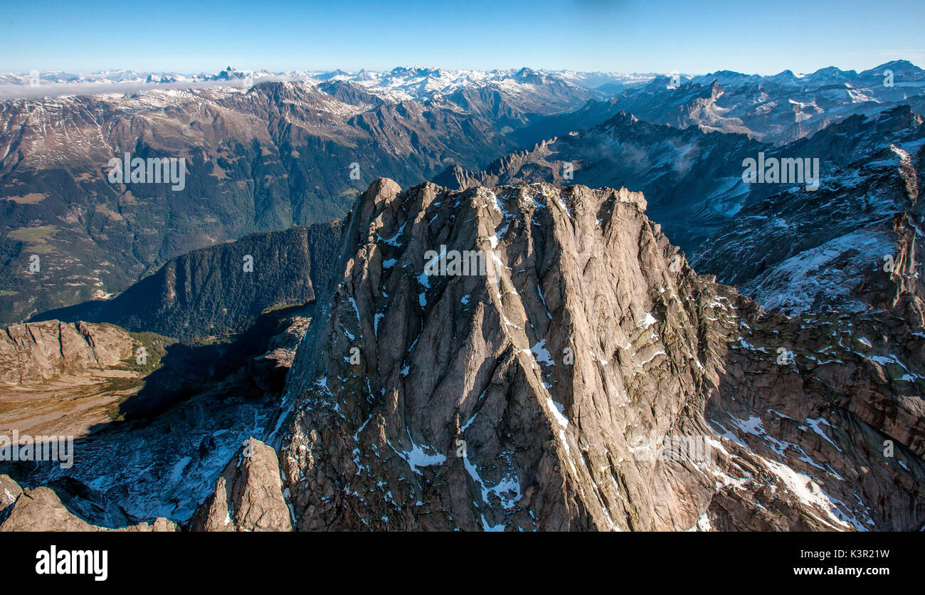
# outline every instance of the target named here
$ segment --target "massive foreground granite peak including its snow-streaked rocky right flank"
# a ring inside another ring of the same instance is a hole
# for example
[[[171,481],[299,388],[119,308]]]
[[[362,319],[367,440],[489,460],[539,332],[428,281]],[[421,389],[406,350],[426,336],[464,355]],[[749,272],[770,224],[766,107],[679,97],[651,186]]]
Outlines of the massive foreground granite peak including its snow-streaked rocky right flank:
[[[645,208],[377,180],[270,437],[294,527],[920,527],[920,328],[765,315]]]

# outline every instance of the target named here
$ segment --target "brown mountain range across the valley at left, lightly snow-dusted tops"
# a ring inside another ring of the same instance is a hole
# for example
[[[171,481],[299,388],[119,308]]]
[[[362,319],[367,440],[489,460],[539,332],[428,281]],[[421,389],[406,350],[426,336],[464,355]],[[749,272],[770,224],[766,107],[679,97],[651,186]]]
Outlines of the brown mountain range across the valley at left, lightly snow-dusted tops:
[[[343,217],[379,176],[413,183],[453,163],[482,167],[517,148],[506,131],[537,110],[590,96],[557,89],[393,103],[350,82],[273,81],[6,101],[0,320],[104,298],[216,242]],[[126,154],[184,159],[183,189],[111,183],[110,159]]]

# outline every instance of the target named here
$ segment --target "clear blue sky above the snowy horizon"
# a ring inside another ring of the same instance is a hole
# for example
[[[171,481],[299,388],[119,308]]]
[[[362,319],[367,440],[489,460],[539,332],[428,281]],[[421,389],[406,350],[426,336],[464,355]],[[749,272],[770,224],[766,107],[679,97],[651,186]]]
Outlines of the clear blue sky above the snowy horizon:
[[[922,0],[4,3],[0,71],[925,67]]]

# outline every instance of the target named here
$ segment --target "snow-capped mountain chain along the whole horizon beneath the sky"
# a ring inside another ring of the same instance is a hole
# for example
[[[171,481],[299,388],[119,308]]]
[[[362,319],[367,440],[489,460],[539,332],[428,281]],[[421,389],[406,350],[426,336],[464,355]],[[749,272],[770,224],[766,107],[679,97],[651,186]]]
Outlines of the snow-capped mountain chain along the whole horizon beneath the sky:
[[[874,115],[894,105],[925,112],[925,70],[894,60],[857,72],[828,67],[808,74],[790,70],[771,76],[719,70],[709,74],[584,72],[532,68],[452,70],[399,67],[388,71],[239,70],[179,74],[134,70],[89,75],[67,72],[0,74],[0,99],[137,94],[196,90],[247,91],[255,84],[292,81],[310,87],[347,88],[376,101],[437,102],[471,111],[468,98],[490,105],[497,93],[522,111],[546,117],[513,126],[514,137],[532,146],[581,130],[620,111],[676,128],[700,126],[783,144],[853,114]],[[165,95],[152,95],[152,100]],[[445,103],[449,102],[449,104]],[[586,103],[585,103],[586,102]],[[581,109],[575,110],[584,103]]]

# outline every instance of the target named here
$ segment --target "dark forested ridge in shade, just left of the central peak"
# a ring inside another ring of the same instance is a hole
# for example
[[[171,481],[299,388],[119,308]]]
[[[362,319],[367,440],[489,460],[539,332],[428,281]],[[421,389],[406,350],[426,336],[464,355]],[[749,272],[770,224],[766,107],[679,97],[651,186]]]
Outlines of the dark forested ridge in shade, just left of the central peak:
[[[337,258],[339,223],[253,233],[183,254],[112,300],[39,318],[112,322],[181,341],[237,333],[265,308],[314,300]]]

